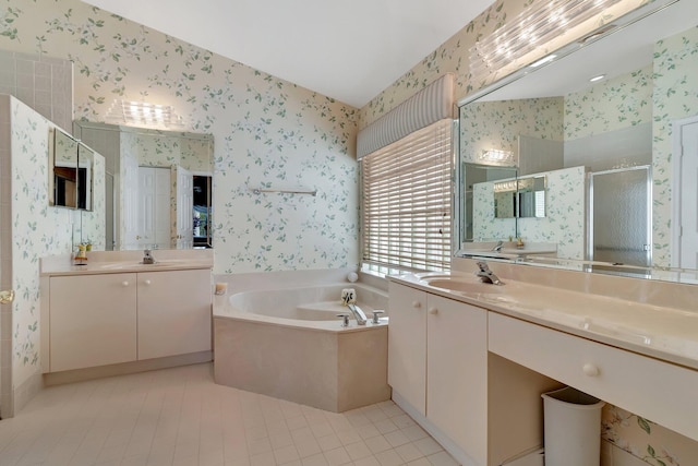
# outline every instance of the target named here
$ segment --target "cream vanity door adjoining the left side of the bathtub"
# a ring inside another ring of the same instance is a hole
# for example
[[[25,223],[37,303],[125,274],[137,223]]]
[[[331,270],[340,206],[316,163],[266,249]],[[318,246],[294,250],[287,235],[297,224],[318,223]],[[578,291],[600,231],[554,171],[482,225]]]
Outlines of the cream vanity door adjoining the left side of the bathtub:
[[[139,273],[139,360],[210,350],[210,271]]]

